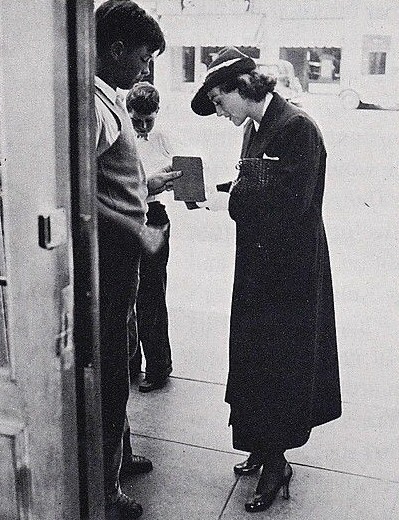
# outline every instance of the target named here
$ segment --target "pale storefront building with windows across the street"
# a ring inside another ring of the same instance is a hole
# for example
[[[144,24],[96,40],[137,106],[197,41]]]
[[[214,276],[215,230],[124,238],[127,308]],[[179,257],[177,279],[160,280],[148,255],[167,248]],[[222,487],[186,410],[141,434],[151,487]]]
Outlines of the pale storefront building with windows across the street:
[[[157,62],[160,88],[195,90],[214,53],[227,45],[259,63],[290,61],[304,91],[371,88],[390,94],[398,83],[397,0],[139,3],[159,19],[167,39],[167,50]]]

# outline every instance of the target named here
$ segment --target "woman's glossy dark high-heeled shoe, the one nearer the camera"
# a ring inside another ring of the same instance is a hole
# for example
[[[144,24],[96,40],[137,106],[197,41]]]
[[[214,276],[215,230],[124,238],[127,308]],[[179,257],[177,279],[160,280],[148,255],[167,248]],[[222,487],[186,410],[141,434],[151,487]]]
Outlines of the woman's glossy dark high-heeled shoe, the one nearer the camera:
[[[265,465],[254,496],[245,504],[246,511],[250,513],[265,511],[272,505],[281,488],[283,489],[283,498],[289,499],[292,473],[292,468],[284,456],[276,461],[274,466]]]

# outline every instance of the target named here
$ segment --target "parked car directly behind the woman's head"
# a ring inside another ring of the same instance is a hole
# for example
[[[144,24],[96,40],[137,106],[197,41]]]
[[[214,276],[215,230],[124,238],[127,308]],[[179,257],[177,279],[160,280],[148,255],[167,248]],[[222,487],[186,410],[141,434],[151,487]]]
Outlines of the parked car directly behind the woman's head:
[[[299,79],[295,76],[294,67],[287,60],[277,60],[273,63],[258,63],[258,70],[262,74],[274,76],[277,84],[274,88],[284,99],[300,106],[302,104],[303,89]]]

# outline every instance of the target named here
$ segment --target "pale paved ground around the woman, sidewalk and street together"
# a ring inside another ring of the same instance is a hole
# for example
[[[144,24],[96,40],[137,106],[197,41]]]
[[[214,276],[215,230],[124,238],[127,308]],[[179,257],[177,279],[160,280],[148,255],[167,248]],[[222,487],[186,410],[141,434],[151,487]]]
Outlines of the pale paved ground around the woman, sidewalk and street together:
[[[200,118],[189,93],[166,97],[163,125],[177,154],[201,155],[209,185],[236,176],[242,128]],[[249,514],[257,475],[236,478],[223,402],[228,368],[234,225],[226,211],[188,211],[165,195],[172,222],[168,306],[174,371],[140,394],[128,414],[151,474],[126,491],[143,520],[396,520],[399,518],[399,112],[345,111],[331,95],[307,95],[328,151],[324,220],[329,239],[343,415],[315,428],[293,463],[291,499]]]

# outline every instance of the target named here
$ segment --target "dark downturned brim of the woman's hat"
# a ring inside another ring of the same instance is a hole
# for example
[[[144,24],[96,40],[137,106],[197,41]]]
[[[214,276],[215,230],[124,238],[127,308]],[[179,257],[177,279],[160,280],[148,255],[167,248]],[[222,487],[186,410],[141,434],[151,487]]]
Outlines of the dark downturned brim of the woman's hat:
[[[191,109],[199,116],[210,116],[216,112],[215,105],[209,99],[208,93],[218,85],[233,79],[235,76],[251,72],[256,69],[256,63],[252,58],[243,58],[230,65],[219,69],[206,78],[202,87],[198,90],[191,101]]]

